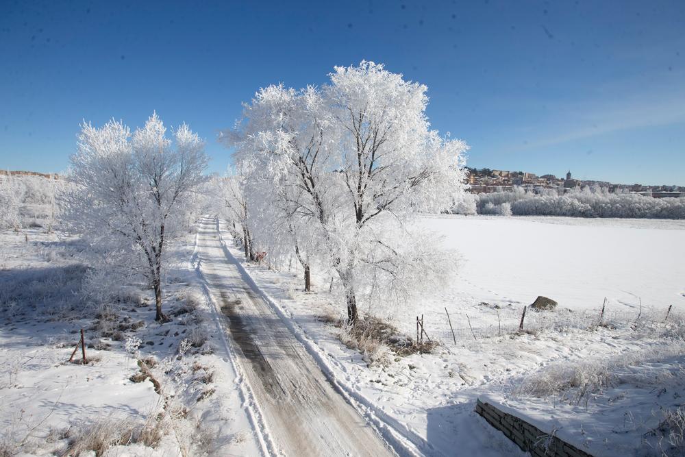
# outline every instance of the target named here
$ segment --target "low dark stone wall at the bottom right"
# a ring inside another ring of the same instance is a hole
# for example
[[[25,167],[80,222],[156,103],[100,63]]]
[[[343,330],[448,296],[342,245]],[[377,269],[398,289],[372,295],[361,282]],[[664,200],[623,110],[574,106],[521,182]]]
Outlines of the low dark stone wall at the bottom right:
[[[514,441],[524,452],[530,452],[534,457],[592,457],[591,454],[562,441],[557,436],[543,432],[535,425],[503,412],[489,403],[477,400],[475,412]]]

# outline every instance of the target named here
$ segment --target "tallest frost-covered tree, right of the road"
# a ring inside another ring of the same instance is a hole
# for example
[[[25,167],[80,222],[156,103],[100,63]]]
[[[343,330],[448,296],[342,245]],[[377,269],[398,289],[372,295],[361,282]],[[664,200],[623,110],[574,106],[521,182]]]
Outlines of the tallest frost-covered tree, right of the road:
[[[429,282],[419,271],[406,271],[428,267],[426,257],[435,262],[437,253],[406,252],[404,248],[416,245],[409,241],[421,235],[399,227],[408,214],[449,209],[463,192],[466,145],[430,129],[426,90],[373,62],[336,66],[324,88],[334,119],[331,147],[339,163],[335,177],[343,209],[329,227],[336,234],[331,237],[336,240],[334,268],[351,322],[357,318],[358,270],[367,270],[367,279],[384,275],[386,282],[397,284]],[[405,236],[388,238],[393,227]],[[423,241],[430,247],[430,240]]]

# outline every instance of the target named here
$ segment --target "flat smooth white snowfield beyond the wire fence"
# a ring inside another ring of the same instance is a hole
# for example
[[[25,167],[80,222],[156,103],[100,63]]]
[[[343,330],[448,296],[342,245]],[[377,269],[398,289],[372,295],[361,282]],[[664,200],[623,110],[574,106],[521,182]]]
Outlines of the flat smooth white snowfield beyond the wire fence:
[[[455,286],[478,301],[568,308],[685,308],[685,221],[436,216],[463,264]]]

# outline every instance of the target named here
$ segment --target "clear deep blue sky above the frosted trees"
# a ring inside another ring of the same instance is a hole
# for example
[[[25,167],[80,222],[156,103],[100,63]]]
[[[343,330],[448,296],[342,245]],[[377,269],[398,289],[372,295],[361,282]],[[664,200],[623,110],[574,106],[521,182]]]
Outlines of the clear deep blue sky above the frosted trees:
[[[82,119],[208,142],[260,87],[383,62],[469,165],[685,185],[685,1],[0,1],[0,168],[61,171]]]

